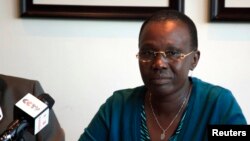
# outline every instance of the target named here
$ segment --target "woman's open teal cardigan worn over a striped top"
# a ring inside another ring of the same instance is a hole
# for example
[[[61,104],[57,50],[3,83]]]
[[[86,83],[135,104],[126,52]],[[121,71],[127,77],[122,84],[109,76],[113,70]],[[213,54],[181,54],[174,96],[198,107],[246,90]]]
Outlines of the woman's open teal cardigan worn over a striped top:
[[[177,141],[207,141],[209,124],[247,124],[231,91],[190,78],[193,84]],[[100,107],[79,141],[140,141],[146,88],[115,91]]]

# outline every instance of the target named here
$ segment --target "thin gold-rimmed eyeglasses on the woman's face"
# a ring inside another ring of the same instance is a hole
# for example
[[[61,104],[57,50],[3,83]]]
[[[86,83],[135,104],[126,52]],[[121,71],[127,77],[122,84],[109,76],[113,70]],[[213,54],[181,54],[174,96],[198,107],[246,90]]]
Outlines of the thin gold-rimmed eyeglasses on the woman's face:
[[[180,61],[187,57],[188,55],[192,54],[194,52],[191,51],[187,54],[181,53],[179,51],[152,51],[152,50],[147,50],[147,51],[139,51],[139,53],[136,55],[136,57],[139,59],[141,62],[151,62],[155,59],[157,54],[162,55],[165,59],[167,59],[170,62],[173,61]]]

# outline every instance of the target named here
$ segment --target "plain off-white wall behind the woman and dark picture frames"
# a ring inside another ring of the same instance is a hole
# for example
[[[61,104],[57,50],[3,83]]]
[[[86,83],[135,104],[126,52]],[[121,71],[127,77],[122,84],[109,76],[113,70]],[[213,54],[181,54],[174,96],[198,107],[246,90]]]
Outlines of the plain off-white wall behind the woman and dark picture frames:
[[[186,0],[197,25],[197,76],[229,88],[250,121],[250,24],[209,23],[208,0]],[[0,73],[39,80],[77,140],[114,90],[142,84],[135,54],[140,21],[21,19],[16,0],[0,0]]]

